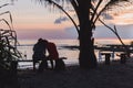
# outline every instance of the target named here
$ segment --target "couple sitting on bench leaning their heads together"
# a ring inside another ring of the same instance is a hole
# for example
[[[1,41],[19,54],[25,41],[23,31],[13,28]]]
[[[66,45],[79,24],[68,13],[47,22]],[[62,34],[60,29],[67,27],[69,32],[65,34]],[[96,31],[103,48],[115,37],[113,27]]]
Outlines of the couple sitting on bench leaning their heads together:
[[[48,51],[48,56],[45,55]],[[57,51],[57,46],[52,42],[48,42],[47,40],[39,38],[37,44],[33,46],[33,70],[35,70],[35,63],[39,63],[41,61],[41,64],[39,65],[39,70],[43,70],[43,68],[48,68],[48,62],[47,59],[50,59],[52,69],[53,66],[53,59],[59,58],[59,53]]]

